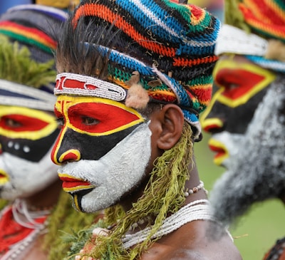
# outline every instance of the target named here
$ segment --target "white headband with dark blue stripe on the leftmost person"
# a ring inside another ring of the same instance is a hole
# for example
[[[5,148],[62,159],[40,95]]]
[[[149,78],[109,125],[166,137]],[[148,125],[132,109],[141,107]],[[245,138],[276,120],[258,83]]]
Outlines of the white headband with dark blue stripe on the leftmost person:
[[[56,97],[52,93],[0,79],[0,104],[53,111]]]

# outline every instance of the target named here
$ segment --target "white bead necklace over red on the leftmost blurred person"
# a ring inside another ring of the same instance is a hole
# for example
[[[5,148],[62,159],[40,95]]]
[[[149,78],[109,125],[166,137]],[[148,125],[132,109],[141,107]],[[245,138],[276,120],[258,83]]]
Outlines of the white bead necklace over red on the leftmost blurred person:
[[[4,254],[4,256],[1,256],[1,260],[22,259],[20,255],[31,247],[33,241],[35,241],[38,235],[41,234],[41,232],[44,232],[44,229],[46,228],[46,222],[40,224],[34,219],[46,217],[46,215],[50,214],[51,211],[41,210],[37,212],[29,212],[26,202],[24,200],[16,199],[12,205],[12,212],[17,223],[21,224],[23,227],[27,227],[28,229],[33,229],[33,231],[18,243],[13,244],[11,249]],[[24,219],[23,217],[20,217],[21,215],[24,216]]]

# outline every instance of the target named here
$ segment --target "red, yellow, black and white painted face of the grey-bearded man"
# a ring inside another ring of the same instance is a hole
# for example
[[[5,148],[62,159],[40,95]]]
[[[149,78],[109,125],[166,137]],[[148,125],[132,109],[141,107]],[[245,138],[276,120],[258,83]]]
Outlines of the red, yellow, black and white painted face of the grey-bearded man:
[[[217,153],[214,163],[228,167],[275,76],[241,56],[223,56],[213,75],[218,90],[202,115],[202,128],[212,134],[209,147]]]

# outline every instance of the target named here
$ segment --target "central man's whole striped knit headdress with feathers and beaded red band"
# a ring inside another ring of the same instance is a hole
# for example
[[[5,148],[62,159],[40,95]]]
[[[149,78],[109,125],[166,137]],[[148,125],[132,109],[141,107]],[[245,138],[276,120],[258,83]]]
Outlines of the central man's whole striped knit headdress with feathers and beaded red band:
[[[176,103],[199,136],[198,116],[211,98],[217,61],[220,23],[214,16],[169,0],[88,0],[81,1],[68,24],[57,52],[56,95],[110,98],[133,108]],[[92,52],[108,59],[103,80],[95,68],[99,61],[87,61]]]

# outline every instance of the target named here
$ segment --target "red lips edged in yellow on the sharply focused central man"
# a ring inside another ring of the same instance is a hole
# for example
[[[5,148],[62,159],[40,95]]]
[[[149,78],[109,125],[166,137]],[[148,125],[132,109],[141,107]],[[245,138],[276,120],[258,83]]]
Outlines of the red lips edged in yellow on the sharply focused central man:
[[[63,182],[63,190],[65,192],[78,192],[83,189],[93,189],[95,186],[86,182],[85,180],[75,178],[71,175],[66,175],[64,173],[58,173],[58,177]]]

